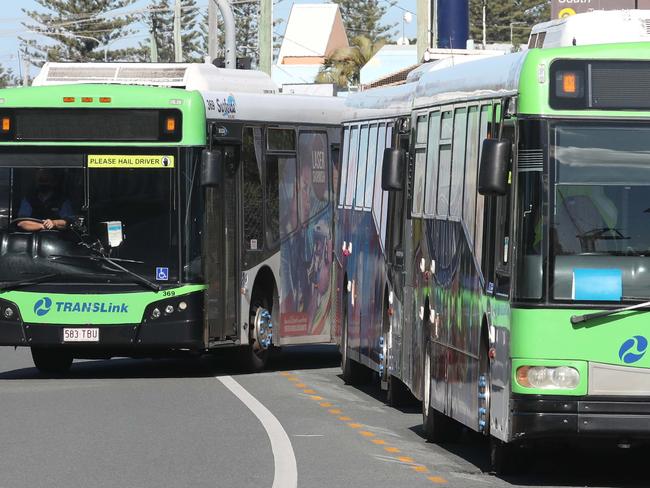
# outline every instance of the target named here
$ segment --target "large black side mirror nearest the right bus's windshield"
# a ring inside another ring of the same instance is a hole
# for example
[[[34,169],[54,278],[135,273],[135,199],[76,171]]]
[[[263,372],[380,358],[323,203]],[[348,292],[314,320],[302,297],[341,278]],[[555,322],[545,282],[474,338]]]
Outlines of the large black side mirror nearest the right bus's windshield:
[[[505,195],[508,191],[510,141],[485,139],[481,149],[478,192],[483,196]]]

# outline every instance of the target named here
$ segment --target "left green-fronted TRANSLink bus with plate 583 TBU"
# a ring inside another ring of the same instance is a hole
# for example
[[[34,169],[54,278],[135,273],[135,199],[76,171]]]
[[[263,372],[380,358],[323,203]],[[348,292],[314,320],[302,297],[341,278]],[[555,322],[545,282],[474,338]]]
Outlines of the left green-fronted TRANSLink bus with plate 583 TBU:
[[[332,340],[341,101],[210,64],[34,84],[0,91],[0,344],[64,372],[227,346],[257,369]]]

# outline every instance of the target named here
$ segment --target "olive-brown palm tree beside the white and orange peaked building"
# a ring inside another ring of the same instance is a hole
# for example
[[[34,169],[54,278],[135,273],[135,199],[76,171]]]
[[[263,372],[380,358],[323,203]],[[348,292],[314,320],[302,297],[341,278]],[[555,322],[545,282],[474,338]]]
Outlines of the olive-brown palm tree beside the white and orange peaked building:
[[[350,47],[339,48],[325,59],[316,77],[316,83],[334,83],[342,88],[358,85],[361,68],[384,44],[383,40],[373,43],[367,37],[355,37]]]

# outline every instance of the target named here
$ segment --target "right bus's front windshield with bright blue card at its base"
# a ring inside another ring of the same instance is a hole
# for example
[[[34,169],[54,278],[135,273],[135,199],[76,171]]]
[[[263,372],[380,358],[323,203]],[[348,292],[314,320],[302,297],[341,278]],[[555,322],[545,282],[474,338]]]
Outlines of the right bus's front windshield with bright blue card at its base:
[[[650,127],[567,123],[554,138],[553,297],[650,296]]]

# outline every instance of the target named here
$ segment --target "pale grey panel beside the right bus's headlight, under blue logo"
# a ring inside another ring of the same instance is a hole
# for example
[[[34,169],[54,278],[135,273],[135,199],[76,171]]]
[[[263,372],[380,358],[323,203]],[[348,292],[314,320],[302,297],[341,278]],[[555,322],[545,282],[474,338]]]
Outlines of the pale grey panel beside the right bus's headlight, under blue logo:
[[[650,369],[589,363],[589,395],[650,396]]]

